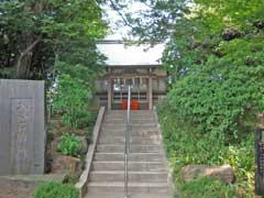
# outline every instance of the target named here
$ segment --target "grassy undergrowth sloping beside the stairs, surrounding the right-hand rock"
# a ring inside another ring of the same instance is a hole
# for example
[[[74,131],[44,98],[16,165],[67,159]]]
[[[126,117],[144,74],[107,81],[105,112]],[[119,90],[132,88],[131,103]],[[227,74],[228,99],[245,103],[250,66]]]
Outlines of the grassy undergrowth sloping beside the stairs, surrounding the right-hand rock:
[[[219,189],[212,197],[221,197],[222,190],[238,189],[242,197],[254,197],[254,134],[239,136],[239,141],[230,141],[229,144],[221,142],[218,138],[199,133],[190,122],[180,122],[178,114],[167,102],[158,107],[158,120],[167,151],[168,161],[174,173],[175,185],[183,191],[189,186],[197,186],[199,182],[184,184],[180,179],[180,169],[189,164],[222,165],[230,164],[235,172],[237,183],[226,188],[224,185],[213,184],[204,180],[200,184],[201,190]],[[217,185],[217,186],[216,186]],[[186,198],[202,198],[201,191],[191,190],[186,193]],[[195,195],[195,193],[197,195]],[[195,196],[194,196],[195,195]],[[210,195],[210,194],[209,194]],[[232,194],[227,194],[224,198],[234,198]],[[184,197],[184,198],[185,198]],[[205,197],[207,198],[207,197]],[[208,197],[209,198],[209,197]]]

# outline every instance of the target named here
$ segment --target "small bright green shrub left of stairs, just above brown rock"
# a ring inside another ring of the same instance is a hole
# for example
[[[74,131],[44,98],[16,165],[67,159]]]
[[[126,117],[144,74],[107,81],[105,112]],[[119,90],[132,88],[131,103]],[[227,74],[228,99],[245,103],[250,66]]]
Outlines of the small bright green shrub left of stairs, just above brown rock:
[[[57,150],[64,155],[78,156],[81,143],[75,134],[64,133]]]

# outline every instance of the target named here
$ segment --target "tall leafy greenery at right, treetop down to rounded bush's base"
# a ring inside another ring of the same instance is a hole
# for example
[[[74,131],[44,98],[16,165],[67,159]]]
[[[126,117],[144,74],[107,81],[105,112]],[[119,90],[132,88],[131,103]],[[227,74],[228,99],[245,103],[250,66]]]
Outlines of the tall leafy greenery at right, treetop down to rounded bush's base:
[[[243,138],[264,106],[262,0],[141,0],[140,42],[164,42],[168,102],[185,122],[224,142]],[[250,123],[250,124],[249,124]]]

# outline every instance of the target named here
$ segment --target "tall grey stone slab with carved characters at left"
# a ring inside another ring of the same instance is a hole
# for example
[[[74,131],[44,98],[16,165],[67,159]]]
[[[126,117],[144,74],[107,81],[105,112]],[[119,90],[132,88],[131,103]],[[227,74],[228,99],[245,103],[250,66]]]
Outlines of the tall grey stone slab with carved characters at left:
[[[43,174],[44,81],[0,79],[0,175]]]

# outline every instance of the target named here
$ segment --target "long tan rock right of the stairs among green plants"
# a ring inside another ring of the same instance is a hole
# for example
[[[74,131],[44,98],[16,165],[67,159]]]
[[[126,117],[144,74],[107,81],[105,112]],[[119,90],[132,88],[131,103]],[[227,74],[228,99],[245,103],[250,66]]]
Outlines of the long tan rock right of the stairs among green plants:
[[[202,176],[213,177],[224,184],[234,183],[235,180],[233,169],[230,165],[188,165],[182,168],[182,178],[185,182],[189,182]]]

